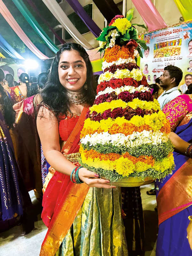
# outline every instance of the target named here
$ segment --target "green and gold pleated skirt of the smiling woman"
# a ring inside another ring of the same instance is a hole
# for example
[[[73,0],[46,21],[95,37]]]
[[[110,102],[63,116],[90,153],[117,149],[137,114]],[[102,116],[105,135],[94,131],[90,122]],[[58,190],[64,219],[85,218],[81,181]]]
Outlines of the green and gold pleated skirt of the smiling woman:
[[[119,188],[89,189],[73,225],[55,254],[64,255],[128,255]]]

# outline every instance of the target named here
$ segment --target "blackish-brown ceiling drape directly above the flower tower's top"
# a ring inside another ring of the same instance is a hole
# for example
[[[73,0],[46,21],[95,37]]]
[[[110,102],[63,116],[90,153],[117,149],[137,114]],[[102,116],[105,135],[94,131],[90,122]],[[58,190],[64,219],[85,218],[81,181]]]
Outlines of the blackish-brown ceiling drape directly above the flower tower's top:
[[[122,15],[113,0],[93,0],[93,2],[96,4],[97,8],[103,14],[108,23],[110,23],[116,15]]]

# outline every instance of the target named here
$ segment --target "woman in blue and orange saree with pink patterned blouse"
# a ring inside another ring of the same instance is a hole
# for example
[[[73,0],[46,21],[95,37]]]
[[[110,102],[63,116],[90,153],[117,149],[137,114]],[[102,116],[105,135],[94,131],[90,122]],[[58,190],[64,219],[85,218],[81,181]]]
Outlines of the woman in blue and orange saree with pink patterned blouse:
[[[192,255],[187,238],[188,216],[192,215],[191,96],[180,95],[163,109],[171,124],[175,170],[164,180],[156,181],[159,219],[156,256]]]

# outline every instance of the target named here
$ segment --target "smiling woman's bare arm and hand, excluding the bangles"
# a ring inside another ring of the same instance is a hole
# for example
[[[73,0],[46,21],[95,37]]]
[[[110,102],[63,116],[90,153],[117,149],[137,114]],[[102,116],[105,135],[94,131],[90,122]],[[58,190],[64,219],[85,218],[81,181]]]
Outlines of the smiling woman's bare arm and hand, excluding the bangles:
[[[37,116],[37,131],[47,162],[58,172],[71,175],[76,167],[60,152],[59,123],[47,108],[41,107]],[[79,170],[79,178],[90,187],[110,188],[109,180],[99,179],[99,175],[86,168]],[[114,186],[112,188],[115,188]]]

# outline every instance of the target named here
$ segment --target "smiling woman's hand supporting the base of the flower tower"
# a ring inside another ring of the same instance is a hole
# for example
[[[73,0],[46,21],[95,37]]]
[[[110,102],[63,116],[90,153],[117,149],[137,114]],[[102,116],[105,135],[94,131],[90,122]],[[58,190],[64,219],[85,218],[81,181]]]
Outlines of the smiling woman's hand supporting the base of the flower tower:
[[[86,168],[79,169],[79,179],[86,183],[89,187],[116,188],[115,186],[111,186],[109,180],[100,179],[98,174],[90,172]]]

